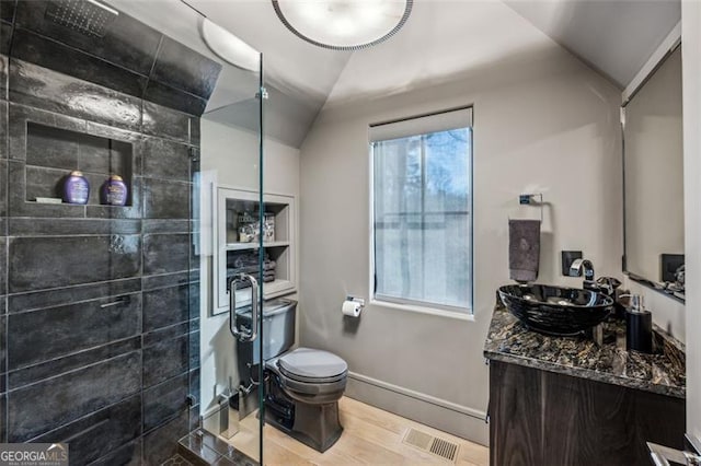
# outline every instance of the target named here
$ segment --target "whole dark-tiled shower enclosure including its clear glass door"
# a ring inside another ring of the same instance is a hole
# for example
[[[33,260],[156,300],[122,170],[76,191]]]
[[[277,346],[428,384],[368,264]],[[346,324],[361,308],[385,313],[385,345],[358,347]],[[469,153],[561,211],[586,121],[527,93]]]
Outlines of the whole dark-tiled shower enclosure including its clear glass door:
[[[0,442],[71,465],[161,465],[181,439],[262,461],[261,366],[235,345],[285,281],[264,269],[287,253],[262,61],[226,63],[202,14],[163,8],[0,1]]]

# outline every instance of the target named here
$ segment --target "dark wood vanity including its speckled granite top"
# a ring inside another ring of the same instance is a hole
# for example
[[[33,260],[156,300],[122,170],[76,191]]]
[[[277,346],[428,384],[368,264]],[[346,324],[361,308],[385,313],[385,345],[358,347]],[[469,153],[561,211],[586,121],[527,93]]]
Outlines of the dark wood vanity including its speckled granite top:
[[[650,465],[645,442],[683,447],[683,347],[659,331],[658,352],[529,331],[494,311],[490,361],[492,465]]]

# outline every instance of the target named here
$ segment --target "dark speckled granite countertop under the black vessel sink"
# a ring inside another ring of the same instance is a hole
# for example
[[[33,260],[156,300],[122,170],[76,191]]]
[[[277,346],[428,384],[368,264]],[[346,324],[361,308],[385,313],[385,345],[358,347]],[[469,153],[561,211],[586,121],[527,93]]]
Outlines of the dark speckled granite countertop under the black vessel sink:
[[[575,377],[686,397],[683,345],[654,328],[655,354],[625,350],[625,323],[604,324],[605,342],[581,337],[551,337],[528,330],[497,303],[484,343],[484,357]]]

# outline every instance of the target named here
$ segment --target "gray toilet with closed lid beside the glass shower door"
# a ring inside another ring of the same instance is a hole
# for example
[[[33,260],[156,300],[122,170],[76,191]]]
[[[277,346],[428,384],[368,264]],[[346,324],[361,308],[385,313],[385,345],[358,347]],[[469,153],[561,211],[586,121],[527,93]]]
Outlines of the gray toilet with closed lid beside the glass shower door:
[[[265,364],[265,420],[288,435],[325,452],[341,436],[338,399],[346,387],[348,364],[336,354],[312,348],[290,350],[295,343],[297,302],[263,304],[262,336]],[[250,323],[250,313],[249,323]],[[245,318],[245,315],[241,315]],[[241,321],[240,321],[241,322]],[[243,321],[245,323],[245,321]],[[258,364],[253,343],[239,342],[240,370]],[[241,372],[244,373],[244,372]]]

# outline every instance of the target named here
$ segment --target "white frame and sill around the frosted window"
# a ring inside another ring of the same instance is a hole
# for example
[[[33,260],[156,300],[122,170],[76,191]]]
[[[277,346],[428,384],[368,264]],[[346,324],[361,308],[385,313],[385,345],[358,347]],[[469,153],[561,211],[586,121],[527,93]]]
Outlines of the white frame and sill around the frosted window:
[[[474,321],[474,133],[473,133],[472,106],[453,108],[430,114],[372,124],[368,128],[368,160],[369,160],[369,295],[370,304],[417,312],[460,321]],[[400,299],[378,294],[376,290],[375,267],[375,154],[372,143],[398,139],[407,136],[425,135],[450,129],[470,128],[470,193],[469,193],[469,228],[470,228],[470,303],[467,307],[444,305],[438,303],[422,302],[417,300]]]

